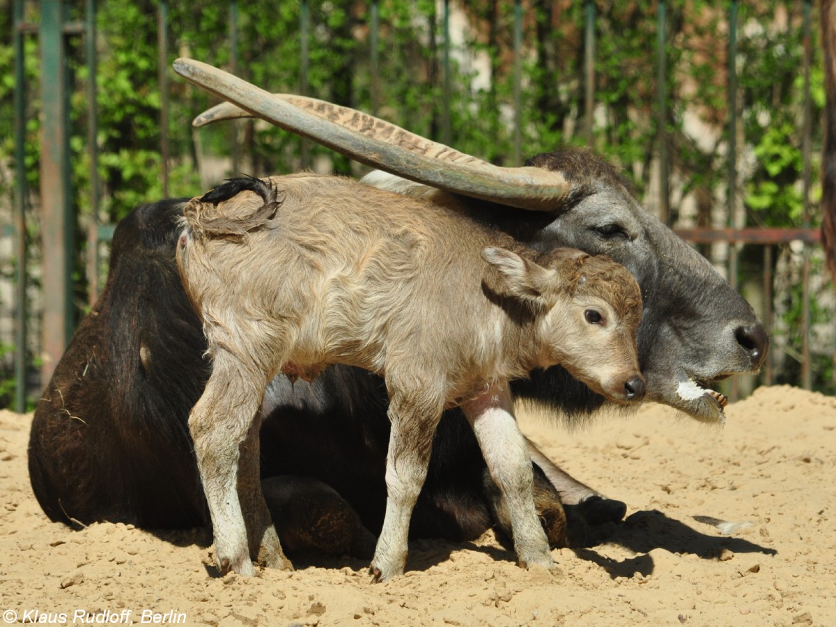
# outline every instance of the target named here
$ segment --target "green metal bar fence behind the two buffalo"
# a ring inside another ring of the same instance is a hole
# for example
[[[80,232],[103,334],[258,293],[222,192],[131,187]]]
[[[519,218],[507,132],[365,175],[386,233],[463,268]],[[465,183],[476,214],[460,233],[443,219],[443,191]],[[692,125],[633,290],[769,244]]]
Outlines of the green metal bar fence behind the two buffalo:
[[[377,44],[380,37],[380,10],[379,0],[372,0],[368,6],[368,37],[371,39],[370,45],[370,68],[371,68],[371,112],[376,113],[380,107],[380,86],[378,83],[377,68],[380,64],[379,45]],[[454,3],[455,4],[455,3]],[[667,43],[665,33],[666,10],[669,3],[664,0],[659,0],[651,7],[655,10],[655,15],[658,23],[655,43],[655,67],[657,76],[656,81],[657,93],[655,96],[655,115],[660,119],[665,119],[665,107],[669,106],[667,94],[665,94],[665,75],[667,69],[665,68],[665,45]],[[728,120],[727,131],[728,136],[736,138],[736,125],[738,123],[737,116],[737,69],[735,67],[735,59],[737,58],[737,12],[738,2],[732,0],[727,3],[727,24],[729,28],[728,36],[728,59],[729,72],[727,84],[727,104],[728,104]],[[772,311],[768,303],[772,299],[772,259],[775,254],[775,247],[785,246],[789,242],[803,242],[803,316],[801,333],[803,336],[803,344],[801,354],[799,356],[802,364],[801,384],[809,388],[812,385],[811,375],[811,359],[810,359],[810,263],[809,252],[812,246],[819,242],[818,229],[811,228],[813,221],[813,210],[810,204],[812,172],[811,172],[811,154],[813,153],[812,129],[813,120],[810,118],[811,106],[809,99],[811,97],[810,91],[810,73],[813,64],[813,50],[811,49],[811,23],[812,23],[812,0],[805,0],[802,3],[795,3],[800,7],[803,13],[803,41],[799,42],[803,46],[803,84],[804,84],[804,99],[805,112],[803,120],[803,199],[804,199],[804,217],[803,227],[795,229],[762,229],[762,228],[742,228],[740,225],[732,221],[735,216],[735,203],[737,202],[737,158],[736,158],[736,140],[730,141],[729,150],[730,158],[729,171],[727,172],[728,190],[727,202],[729,203],[727,215],[730,217],[730,222],[727,227],[721,229],[710,228],[680,228],[677,232],[681,237],[686,238],[689,242],[695,245],[713,244],[716,242],[725,242],[728,245],[727,255],[727,276],[729,277],[732,286],[737,285],[738,277],[738,251],[742,245],[757,245],[763,247],[763,268],[764,274],[762,277],[762,285],[764,293],[767,294],[767,306],[762,312],[767,328],[772,325]],[[441,116],[441,130],[439,139],[442,142],[451,142],[451,3],[450,0],[439,0],[438,11],[440,13],[440,23],[442,30],[441,42],[441,78],[439,79],[441,94],[443,99],[442,116]],[[15,397],[15,407],[17,410],[23,410],[27,402],[27,373],[32,370],[29,363],[27,346],[27,319],[29,314],[27,302],[27,259],[28,251],[26,248],[26,212],[27,212],[27,189],[26,177],[23,167],[20,165],[25,162],[23,155],[23,143],[25,141],[25,102],[28,94],[33,92],[34,86],[27,86],[25,84],[25,74],[23,71],[23,54],[24,46],[23,40],[26,37],[38,37],[40,48],[40,66],[41,66],[41,84],[39,85],[41,107],[42,107],[42,124],[43,131],[41,134],[41,171],[40,171],[40,211],[42,212],[42,251],[43,251],[43,293],[46,295],[43,298],[43,319],[42,319],[42,337],[40,340],[41,351],[48,356],[42,370],[41,370],[41,384],[45,384],[48,376],[51,374],[54,364],[57,363],[60,355],[63,353],[71,334],[73,332],[71,321],[74,319],[74,304],[72,298],[73,285],[73,258],[74,258],[74,229],[76,228],[76,217],[74,215],[74,205],[71,201],[71,186],[70,186],[70,169],[69,169],[69,85],[67,81],[67,45],[70,38],[81,38],[84,43],[84,59],[87,65],[89,77],[87,81],[87,99],[89,100],[89,118],[87,120],[88,136],[87,136],[87,150],[89,150],[90,169],[90,184],[92,192],[90,195],[90,202],[92,204],[91,214],[94,218],[99,216],[98,203],[100,198],[99,178],[96,164],[98,163],[96,133],[98,127],[97,113],[96,113],[96,32],[95,32],[95,0],[85,0],[84,3],[84,19],[76,21],[68,21],[67,19],[67,3],[64,0],[42,0],[39,3],[39,23],[26,23],[23,20],[23,0],[13,0],[13,49],[15,56],[15,152],[14,161],[17,165],[15,171],[15,194],[13,204],[13,226],[14,226],[14,255],[16,257],[16,275],[15,275],[15,291],[14,291],[14,344],[16,349],[15,354],[15,378],[17,380],[17,394]],[[78,9],[78,7],[76,7]],[[239,8],[238,3],[232,0],[228,4],[229,9],[229,30],[228,30],[228,44],[232,50],[231,60],[228,69],[232,73],[237,71],[237,49],[238,49],[238,35],[237,24]],[[599,44],[596,41],[596,12],[599,10],[598,4],[594,0],[586,0],[584,2],[584,116],[583,126],[579,133],[583,135],[588,143],[592,143],[594,137],[594,106],[595,106],[595,75],[594,62],[596,59],[596,48]],[[650,9],[649,9],[650,10]],[[525,7],[521,0],[516,0],[513,3],[513,21],[512,21],[512,41],[513,41],[513,59],[512,59],[512,96],[513,96],[513,124],[515,133],[513,135],[513,155],[512,165],[519,165],[521,161],[521,133],[522,125],[520,111],[521,99],[520,94],[523,84],[523,19],[525,18]],[[78,11],[76,13],[79,13]],[[163,181],[163,193],[168,194],[168,177],[169,166],[171,163],[171,154],[169,147],[169,136],[166,132],[169,128],[169,84],[168,74],[171,61],[171,50],[168,38],[169,24],[169,3],[163,0],[158,5],[158,28],[159,28],[159,89],[161,90],[161,111],[160,111],[160,125],[161,125],[161,172],[160,176]],[[300,64],[300,82],[298,91],[301,94],[308,93],[308,69],[310,65],[310,55],[308,48],[308,38],[311,29],[315,28],[312,25],[310,13],[308,11],[307,0],[301,0],[299,12],[299,64]],[[558,79],[558,77],[556,77]],[[29,89],[28,89],[29,88]],[[670,172],[668,171],[669,156],[665,154],[666,146],[668,145],[665,134],[668,133],[665,124],[659,125],[659,138],[656,141],[657,146],[657,160],[659,164],[658,176],[659,181],[656,186],[656,193],[658,198],[655,199],[655,206],[658,207],[658,212],[663,220],[670,220]],[[237,146],[233,145],[232,160],[237,161]],[[303,163],[307,162],[309,155],[303,148]],[[196,190],[197,191],[197,190]],[[195,192],[196,192],[195,191]],[[149,198],[148,200],[154,200]],[[645,199],[647,200],[647,199]],[[89,281],[89,291],[91,298],[99,292],[99,278],[97,268],[99,268],[98,242],[107,240],[113,232],[113,226],[108,224],[99,224],[94,222],[89,229],[88,242],[90,256],[86,264],[87,278]],[[770,362],[771,363],[771,362]],[[772,369],[767,366],[761,377],[762,382],[772,383],[773,373]],[[736,394],[736,390],[731,390],[732,395]]]

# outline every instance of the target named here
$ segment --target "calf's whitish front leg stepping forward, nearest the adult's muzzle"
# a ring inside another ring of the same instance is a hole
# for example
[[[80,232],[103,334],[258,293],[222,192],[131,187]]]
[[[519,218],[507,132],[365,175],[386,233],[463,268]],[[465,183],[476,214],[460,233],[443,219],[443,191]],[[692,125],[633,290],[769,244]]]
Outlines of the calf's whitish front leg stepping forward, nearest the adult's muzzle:
[[[487,469],[507,503],[520,566],[528,568],[537,563],[554,568],[548,538],[534,508],[531,458],[514,419],[507,388],[491,385],[485,393],[462,405],[462,410],[476,434]]]

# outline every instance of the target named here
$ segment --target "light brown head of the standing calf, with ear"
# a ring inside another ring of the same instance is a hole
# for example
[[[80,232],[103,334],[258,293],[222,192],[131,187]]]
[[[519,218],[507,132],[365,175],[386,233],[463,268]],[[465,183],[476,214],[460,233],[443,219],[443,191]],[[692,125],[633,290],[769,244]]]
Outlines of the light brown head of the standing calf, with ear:
[[[561,364],[608,400],[641,400],[645,380],[635,343],[641,295],[623,266],[563,248],[542,265],[503,248],[486,248],[482,257],[493,270],[487,287],[533,315],[537,366]]]

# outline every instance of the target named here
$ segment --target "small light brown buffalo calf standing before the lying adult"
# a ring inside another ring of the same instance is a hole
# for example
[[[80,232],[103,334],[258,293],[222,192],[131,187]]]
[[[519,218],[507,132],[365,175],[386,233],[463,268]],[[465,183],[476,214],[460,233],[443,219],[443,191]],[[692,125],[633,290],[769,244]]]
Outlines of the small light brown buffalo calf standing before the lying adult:
[[[184,223],[177,263],[212,357],[189,428],[222,571],[289,565],[257,481],[258,410],[278,372],[311,380],[329,364],[383,375],[390,399],[376,580],[403,572],[436,426],[456,405],[519,562],[553,567],[508,382],[562,364],[610,400],[640,400],[630,273],[576,250],[538,255],[460,213],[329,176],[228,181],[191,201]]]

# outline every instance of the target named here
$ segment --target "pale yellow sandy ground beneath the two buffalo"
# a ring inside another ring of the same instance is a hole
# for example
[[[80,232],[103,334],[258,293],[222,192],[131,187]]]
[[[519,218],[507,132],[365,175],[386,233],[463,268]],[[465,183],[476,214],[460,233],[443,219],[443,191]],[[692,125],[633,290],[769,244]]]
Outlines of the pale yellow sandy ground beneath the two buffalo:
[[[218,578],[205,532],[49,523],[28,482],[30,415],[0,412],[4,622],[212,625],[836,624],[836,399],[788,387],[724,428],[648,405],[583,430],[521,417],[576,477],[627,502],[607,542],[517,568],[489,532],[410,543],[405,576],[351,558]],[[742,525],[723,534],[695,517]],[[62,615],[64,614],[64,615]]]

